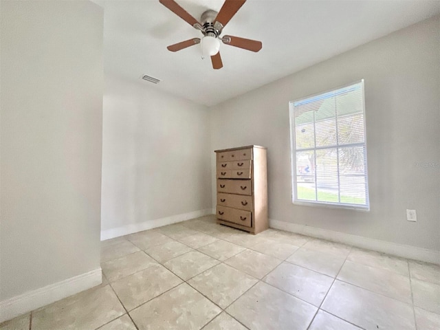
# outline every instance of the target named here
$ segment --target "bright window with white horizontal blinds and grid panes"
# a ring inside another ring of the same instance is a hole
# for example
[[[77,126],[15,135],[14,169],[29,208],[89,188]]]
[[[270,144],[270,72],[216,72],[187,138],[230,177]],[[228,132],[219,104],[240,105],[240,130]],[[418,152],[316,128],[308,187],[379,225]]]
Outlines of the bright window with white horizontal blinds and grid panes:
[[[293,202],[369,210],[364,80],[289,108]]]

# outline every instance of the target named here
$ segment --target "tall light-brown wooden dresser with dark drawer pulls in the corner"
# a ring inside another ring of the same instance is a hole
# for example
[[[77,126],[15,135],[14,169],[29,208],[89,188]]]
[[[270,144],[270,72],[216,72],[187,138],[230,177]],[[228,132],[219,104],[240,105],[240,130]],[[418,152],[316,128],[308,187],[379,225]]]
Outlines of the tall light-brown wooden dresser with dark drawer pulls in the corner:
[[[257,234],[266,230],[267,156],[263,146],[216,150],[217,222]]]

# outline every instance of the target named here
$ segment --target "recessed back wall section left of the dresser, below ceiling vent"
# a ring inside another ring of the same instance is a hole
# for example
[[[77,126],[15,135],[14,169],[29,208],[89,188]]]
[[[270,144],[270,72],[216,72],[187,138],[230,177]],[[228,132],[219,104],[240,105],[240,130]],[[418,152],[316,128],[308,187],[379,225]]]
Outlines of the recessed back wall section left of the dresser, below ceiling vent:
[[[143,80],[129,83],[109,75],[105,80],[102,239],[206,214],[211,209],[206,107]]]

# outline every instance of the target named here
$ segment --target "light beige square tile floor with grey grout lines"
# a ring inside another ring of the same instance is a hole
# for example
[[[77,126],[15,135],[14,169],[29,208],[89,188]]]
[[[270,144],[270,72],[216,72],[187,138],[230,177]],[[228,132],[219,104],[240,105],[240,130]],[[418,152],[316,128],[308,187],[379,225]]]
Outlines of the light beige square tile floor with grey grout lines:
[[[102,242],[103,283],[0,330],[439,330],[440,266],[192,219]]]

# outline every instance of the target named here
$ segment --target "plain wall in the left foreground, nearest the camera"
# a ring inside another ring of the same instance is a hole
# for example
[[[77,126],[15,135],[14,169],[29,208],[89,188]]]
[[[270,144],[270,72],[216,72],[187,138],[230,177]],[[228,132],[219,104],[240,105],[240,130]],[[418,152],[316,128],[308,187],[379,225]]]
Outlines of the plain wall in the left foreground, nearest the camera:
[[[100,276],[102,26],[89,1],[1,1],[0,303]]]

